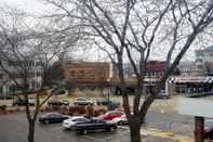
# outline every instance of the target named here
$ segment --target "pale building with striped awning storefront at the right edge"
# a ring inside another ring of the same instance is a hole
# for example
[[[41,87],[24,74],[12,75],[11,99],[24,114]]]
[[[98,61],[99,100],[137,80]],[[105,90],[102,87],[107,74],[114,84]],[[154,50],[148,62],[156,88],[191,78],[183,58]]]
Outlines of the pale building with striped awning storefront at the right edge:
[[[167,82],[172,95],[202,95],[213,92],[213,46],[196,50],[196,61],[181,63],[181,76],[171,76]]]

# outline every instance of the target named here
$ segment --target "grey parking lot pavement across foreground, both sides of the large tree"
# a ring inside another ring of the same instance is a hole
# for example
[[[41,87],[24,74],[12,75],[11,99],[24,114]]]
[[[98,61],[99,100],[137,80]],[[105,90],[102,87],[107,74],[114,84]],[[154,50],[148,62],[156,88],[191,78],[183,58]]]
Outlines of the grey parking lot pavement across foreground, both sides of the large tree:
[[[173,119],[172,119],[173,118]],[[25,113],[0,116],[0,142],[27,142]],[[178,127],[177,127],[178,126]],[[149,112],[142,127],[143,142],[192,142],[192,118],[175,113]],[[77,135],[65,131],[61,124],[36,125],[35,142],[129,142],[128,127],[119,127],[115,133]]]

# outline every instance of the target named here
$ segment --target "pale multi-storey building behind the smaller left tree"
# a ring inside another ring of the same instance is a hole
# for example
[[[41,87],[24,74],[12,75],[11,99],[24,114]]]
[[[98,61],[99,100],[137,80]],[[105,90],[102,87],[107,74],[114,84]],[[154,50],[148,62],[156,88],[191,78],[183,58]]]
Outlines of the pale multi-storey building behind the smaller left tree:
[[[41,86],[41,75],[42,75],[42,62],[38,61],[25,61],[25,62],[10,62],[4,63],[1,62],[0,64],[4,64],[6,69],[10,72],[12,77],[9,77],[1,67],[0,67],[0,95],[6,95],[19,92],[21,89],[16,86],[16,83],[11,79],[14,78],[18,83],[22,81],[22,74],[18,70],[18,66],[26,66],[28,69],[28,82],[29,89],[35,90]]]

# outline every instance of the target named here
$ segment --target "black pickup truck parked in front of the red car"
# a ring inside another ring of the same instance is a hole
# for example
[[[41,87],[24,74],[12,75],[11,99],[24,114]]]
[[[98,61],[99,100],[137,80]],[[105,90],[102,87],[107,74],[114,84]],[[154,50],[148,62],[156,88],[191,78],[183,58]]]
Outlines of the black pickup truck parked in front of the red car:
[[[77,133],[86,134],[88,132],[96,131],[115,131],[117,124],[114,121],[106,121],[104,119],[91,119],[88,122],[77,124],[75,130]]]

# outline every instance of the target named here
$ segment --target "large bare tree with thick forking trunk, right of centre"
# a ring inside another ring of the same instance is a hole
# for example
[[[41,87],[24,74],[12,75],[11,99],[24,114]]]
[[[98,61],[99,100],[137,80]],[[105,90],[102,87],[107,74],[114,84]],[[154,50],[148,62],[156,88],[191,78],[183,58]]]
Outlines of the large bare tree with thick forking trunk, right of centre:
[[[123,108],[130,122],[131,141],[141,142],[141,124],[144,122],[156,95],[197,36],[212,24],[213,2],[211,0],[196,2],[51,0],[49,2],[64,11],[65,16],[82,20],[86,27],[85,33],[94,37],[96,46],[108,54],[118,68]],[[81,12],[74,13],[67,4],[76,5]],[[159,52],[160,46],[164,46],[162,54],[168,62],[167,72],[157,87],[141,102],[147,62],[151,51]],[[125,91],[127,80],[123,69],[125,57],[131,63],[137,80],[133,109]]]

